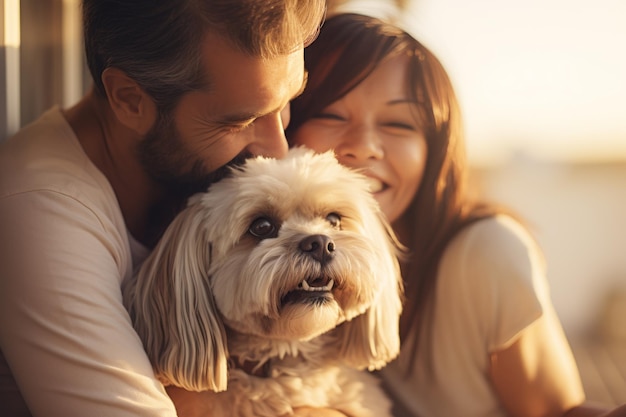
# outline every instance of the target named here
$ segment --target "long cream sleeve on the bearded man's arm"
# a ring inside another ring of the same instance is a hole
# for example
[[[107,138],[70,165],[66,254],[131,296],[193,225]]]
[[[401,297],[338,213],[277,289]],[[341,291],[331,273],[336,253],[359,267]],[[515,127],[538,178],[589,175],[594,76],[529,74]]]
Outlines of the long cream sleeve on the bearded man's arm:
[[[124,236],[58,191],[0,199],[0,348],[34,416],[176,415],[122,305]]]

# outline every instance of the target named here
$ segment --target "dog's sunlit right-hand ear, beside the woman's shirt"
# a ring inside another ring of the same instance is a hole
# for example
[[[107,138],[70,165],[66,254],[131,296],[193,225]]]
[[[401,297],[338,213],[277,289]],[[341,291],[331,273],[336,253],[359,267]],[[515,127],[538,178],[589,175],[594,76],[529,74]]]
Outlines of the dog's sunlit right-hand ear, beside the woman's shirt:
[[[369,370],[382,368],[400,352],[399,326],[403,301],[398,256],[401,256],[404,247],[382,213],[374,213],[373,217],[376,218],[365,224],[374,233],[374,242],[380,242],[381,245],[378,256],[372,259],[381,290],[365,313],[335,329],[339,360],[355,368]]]

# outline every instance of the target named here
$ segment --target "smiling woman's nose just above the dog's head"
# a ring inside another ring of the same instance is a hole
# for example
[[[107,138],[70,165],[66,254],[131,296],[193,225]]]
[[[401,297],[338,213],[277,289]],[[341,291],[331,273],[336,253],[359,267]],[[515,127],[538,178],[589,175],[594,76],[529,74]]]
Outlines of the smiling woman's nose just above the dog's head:
[[[383,138],[375,127],[359,125],[349,129],[335,147],[340,157],[357,160],[382,159],[385,156]]]

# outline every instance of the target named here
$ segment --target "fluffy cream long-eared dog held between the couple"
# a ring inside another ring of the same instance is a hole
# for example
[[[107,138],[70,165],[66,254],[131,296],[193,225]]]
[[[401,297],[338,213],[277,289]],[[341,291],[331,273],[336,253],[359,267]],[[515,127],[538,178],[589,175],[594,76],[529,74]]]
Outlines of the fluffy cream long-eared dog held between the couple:
[[[381,417],[362,369],[399,352],[399,250],[365,176],[296,148],[192,197],[124,303],[157,377],[218,392],[224,415]]]

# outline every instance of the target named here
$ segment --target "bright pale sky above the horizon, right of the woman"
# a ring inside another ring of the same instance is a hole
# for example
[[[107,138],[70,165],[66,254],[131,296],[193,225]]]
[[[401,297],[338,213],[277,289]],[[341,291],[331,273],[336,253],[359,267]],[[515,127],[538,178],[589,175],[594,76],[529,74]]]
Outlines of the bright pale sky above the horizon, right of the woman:
[[[411,2],[406,26],[452,77],[474,163],[626,160],[626,0]]]

